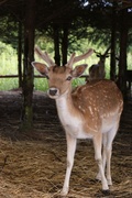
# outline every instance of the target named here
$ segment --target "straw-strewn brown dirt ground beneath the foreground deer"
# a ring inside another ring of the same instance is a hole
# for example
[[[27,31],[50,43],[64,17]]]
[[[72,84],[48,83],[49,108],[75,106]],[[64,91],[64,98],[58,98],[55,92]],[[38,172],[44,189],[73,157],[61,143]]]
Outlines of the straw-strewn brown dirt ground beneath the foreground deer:
[[[0,91],[0,198],[58,198],[66,167],[65,132],[55,102],[33,96],[34,129],[19,130],[21,91]],[[113,142],[110,195],[95,179],[97,164],[90,140],[79,140],[68,198],[132,197],[132,99],[125,102]]]

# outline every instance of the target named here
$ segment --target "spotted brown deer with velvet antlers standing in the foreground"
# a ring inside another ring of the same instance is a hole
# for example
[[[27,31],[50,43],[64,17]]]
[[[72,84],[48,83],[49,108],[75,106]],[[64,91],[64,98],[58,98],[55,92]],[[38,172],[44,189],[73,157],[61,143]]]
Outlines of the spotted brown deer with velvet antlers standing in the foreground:
[[[102,191],[109,191],[109,186],[112,185],[112,142],[118,132],[123,109],[121,91],[113,81],[107,79],[90,81],[72,90],[73,79],[80,77],[87,68],[87,64],[77,65],[75,68],[73,65],[89,57],[94,53],[91,48],[79,56],[73,53],[64,66],[57,66],[50,55],[38,47],[35,52],[46,64],[35,61],[31,64],[47,78],[47,95],[56,102],[57,113],[66,134],[67,166],[61,195],[66,196],[69,191],[78,139],[92,140],[95,160],[99,168],[97,179],[101,182]]]

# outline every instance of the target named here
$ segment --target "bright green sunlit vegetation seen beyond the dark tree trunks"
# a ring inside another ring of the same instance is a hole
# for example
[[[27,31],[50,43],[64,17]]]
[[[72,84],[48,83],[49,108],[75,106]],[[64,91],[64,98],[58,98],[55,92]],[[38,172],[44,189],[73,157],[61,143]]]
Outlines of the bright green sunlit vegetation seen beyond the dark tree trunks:
[[[54,57],[54,47],[51,38],[40,36],[36,41],[36,44],[38,46],[43,46],[43,50],[48,52],[50,55]],[[106,51],[106,46],[103,44],[100,44],[99,47],[99,42],[97,42],[97,44],[94,44],[89,42],[88,38],[81,38],[79,41],[75,41],[72,44],[72,50],[76,51],[77,55],[85,53],[90,47],[95,48],[100,53],[103,53]],[[70,56],[70,54],[68,56]],[[13,48],[10,44],[4,44],[3,42],[0,42],[0,59],[1,59],[0,76],[18,75],[18,54],[15,48]],[[35,56],[35,59],[42,62],[37,56]],[[89,68],[89,66],[91,66],[92,64],[98,63],[98,59],[99,58],[96,56],[96,54],[92,54],[87,61],[85,61],[85,63],[88,64],[88,68]],[[132,63],[132,52],[130,51],[128,53],[128,69],[132,69],[131,63]],[[107,58],[106,61],[106,72],[107,72],[107,78],[109,78],[110,58]],[[86,74],[88,74],[88,69],[86,70]],[[35,72],[35,75],[38,75],[38,73]],[[85,78],[78,78],[74,80],[73,86],[75,87],[84,82],[85,82]],[[18,78],[0,78],[0,90],[11,90],[18,87],[19,87]],[[34,78],[34,89],[46,91],[47,80],[45,78]]]

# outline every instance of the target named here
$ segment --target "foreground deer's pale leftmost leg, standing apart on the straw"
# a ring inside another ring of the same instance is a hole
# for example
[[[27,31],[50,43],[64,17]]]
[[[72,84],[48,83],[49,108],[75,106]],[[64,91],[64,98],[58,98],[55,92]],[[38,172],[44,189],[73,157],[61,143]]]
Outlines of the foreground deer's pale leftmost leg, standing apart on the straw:
[[[74,139],[72,135],[67,133],[66,133],[66,140],[67,140],[67,168],[66,168],[63,190],[61,193],[62,196],[66,196],[69,190],[69,178],[72,174],[72,168],[74,165],[74,156],[75,156],[76,142],[77,142],[76,139]]]

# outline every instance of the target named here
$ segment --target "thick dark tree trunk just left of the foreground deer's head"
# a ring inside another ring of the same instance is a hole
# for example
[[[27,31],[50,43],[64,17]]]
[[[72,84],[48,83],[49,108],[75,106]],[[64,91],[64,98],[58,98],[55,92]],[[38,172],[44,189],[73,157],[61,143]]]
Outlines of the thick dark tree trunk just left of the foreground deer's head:
[[[24,24],[24,78],[23,78],[23,111],[22,130],[31,130],[33,127],[33,67],[34,61],[34,20],[35,0],[26,0]]]

